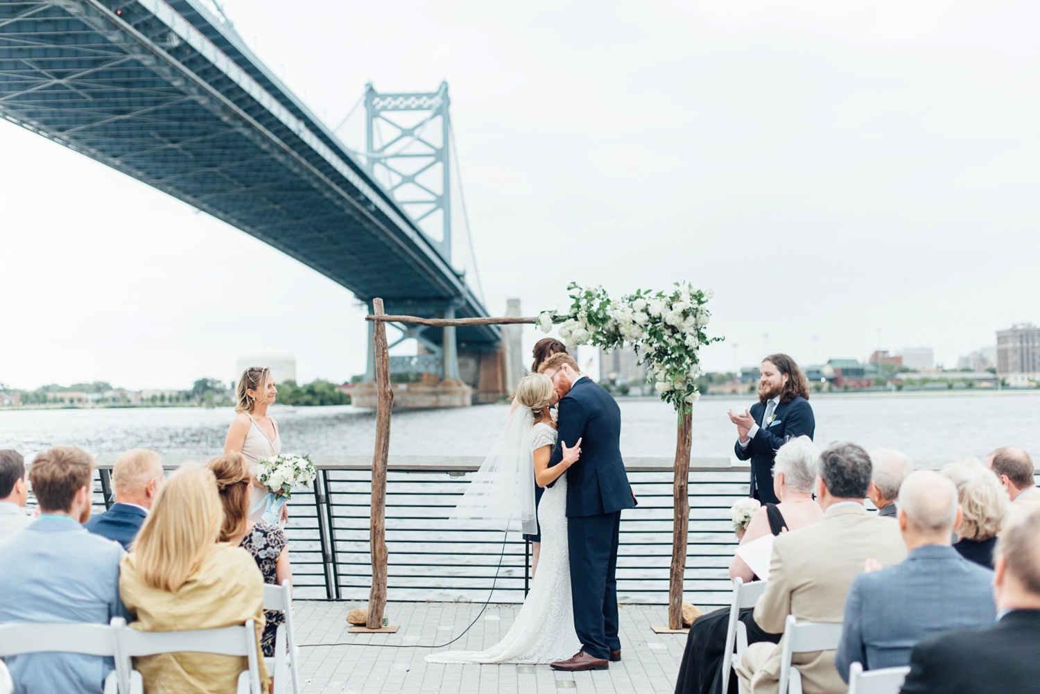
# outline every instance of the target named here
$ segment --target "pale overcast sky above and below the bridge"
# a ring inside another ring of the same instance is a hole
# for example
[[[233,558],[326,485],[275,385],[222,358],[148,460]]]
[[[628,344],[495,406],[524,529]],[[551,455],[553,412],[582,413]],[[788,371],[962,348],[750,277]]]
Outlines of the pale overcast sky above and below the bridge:
[[[367,81],[449,82],[492,313],[690,280],[719,370],[865,359],[879,329],[954,366],[1040,323],[1034,2],[289,6],[225,3],[331,126]],[[313,271],[2,121],[0,164],[0,382],[185,388],[261,346],[364,370],[364,312]]]

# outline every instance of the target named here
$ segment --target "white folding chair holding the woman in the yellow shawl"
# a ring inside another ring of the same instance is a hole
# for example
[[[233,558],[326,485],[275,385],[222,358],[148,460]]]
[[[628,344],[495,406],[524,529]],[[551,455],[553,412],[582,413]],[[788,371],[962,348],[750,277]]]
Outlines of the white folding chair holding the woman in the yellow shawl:
[[[145,691],[140,673],[132,669],[131,658],[190,652],[244,656],[249,669],[238,675],[237,694],[264,694],[260,689],[260,659],[257,657],[257,634],[252,619],[240,626],[187,632],[138,632],[123,626],[116,629],[116,638],[122,692],[144,694]]]

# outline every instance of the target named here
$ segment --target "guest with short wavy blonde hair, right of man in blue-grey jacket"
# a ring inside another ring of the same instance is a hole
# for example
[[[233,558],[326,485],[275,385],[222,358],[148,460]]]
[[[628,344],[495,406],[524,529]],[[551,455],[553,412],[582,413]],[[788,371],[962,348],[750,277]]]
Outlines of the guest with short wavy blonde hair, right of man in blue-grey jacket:
[[[978,460],[966,460],[942,468],[942,477],[957,487],[961,524],[954,549],[961,557],[988,569],[993,568],[993,547],[1010,513],[1008,495],[993,473]]]

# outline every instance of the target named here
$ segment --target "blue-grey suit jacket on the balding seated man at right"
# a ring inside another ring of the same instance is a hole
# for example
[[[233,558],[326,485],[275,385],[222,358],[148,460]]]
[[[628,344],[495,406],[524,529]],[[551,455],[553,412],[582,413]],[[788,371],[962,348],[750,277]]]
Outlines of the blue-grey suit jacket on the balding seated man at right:
[[[909,665],[910,649],[921,639],[992,624],[992,571],[938,544],[911,550],[902,564],[860,573],[846,600],[834,657],[838,674],[849,682],[856,661],[864,670]]]

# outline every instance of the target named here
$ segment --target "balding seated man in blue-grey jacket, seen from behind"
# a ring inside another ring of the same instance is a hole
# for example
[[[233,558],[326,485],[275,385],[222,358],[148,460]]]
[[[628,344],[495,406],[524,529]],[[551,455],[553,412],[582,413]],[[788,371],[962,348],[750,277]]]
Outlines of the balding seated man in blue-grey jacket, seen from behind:
[[[996,617],[993,572],[950,546],[961,517],[954,484],[919,470],[903,483],[899,504],[896,521],[910,554],[852,582],[834,657],[846,682],[854,662],[864,670],[902,667],[921,639],[992,624]]]

